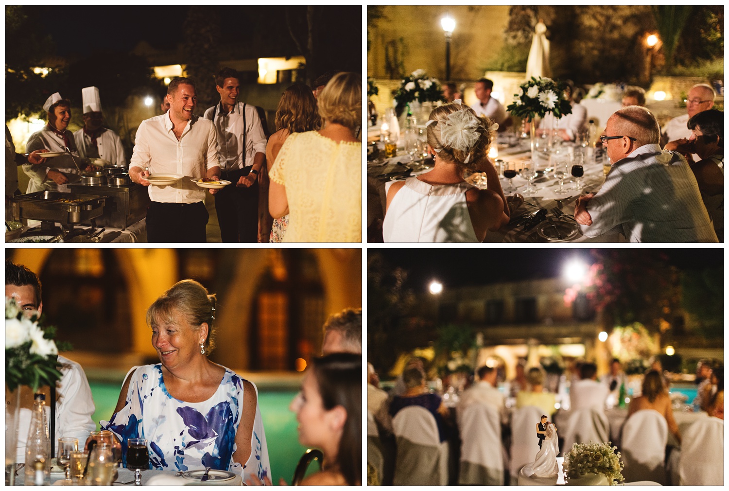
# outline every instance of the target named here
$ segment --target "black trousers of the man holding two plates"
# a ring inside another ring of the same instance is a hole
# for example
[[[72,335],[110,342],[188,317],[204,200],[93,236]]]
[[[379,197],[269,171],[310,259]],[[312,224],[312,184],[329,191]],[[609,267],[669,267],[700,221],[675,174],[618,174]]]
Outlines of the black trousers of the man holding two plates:
[[[148,242],[206,242],[208,223],[205,203],[160,203],[152,201],[147,208]]]

